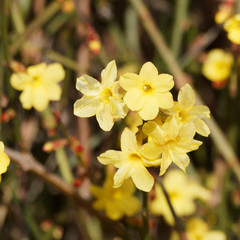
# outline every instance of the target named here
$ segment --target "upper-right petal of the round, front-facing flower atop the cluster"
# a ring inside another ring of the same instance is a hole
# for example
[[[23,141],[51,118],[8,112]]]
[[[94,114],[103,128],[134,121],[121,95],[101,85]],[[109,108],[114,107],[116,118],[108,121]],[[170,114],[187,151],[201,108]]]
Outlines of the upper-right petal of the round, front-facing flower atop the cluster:
[[[156,92],[167,92],[174,86],[173,76],[165,73],[160,74],[152,81],[151,86]]]

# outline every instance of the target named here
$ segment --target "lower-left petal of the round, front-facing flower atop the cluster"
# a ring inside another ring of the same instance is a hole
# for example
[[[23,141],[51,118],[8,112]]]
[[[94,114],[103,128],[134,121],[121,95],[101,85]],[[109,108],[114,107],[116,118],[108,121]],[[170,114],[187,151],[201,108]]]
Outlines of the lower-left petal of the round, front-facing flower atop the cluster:
[[[128,108],[132,111],[138,111],[144,104],[144,95],[140,89],[130,90],[123,98]]]

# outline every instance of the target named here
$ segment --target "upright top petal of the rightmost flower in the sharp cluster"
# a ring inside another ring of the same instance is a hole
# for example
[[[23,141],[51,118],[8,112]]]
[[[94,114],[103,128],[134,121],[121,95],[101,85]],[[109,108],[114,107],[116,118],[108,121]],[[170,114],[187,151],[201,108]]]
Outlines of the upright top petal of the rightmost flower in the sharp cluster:
[[[189,84],[183,86],[178,93],[178,102],[184,108],[191,108],[195,104],[195,93]]]

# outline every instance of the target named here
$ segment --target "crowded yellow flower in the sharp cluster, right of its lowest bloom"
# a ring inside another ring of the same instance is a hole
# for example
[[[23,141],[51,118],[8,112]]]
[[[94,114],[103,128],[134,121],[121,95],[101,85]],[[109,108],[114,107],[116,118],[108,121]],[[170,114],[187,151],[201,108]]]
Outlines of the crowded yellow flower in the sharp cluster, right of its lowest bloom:
[[[149,159],[161,155],[160,175],[174,162],[185,171],[190,160],[188,152],[198,149],[202,142],[194,140],[195,127],[192,123],[178,126],[175,117],[168,117],[165,122],[148,121],[143,125],[143,132],[150,137],[150,142],[142,146],[142,154]]]

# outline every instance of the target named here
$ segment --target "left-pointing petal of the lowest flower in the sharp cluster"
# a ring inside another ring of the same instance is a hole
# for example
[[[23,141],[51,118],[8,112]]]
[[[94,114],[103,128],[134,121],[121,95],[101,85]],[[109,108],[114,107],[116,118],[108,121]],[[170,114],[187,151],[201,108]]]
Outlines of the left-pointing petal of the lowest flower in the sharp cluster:
[[[104,165],[113,164],[119,167],[122,162],[122,152],[108,150],[105,153],[102,153],[97,159]]]

